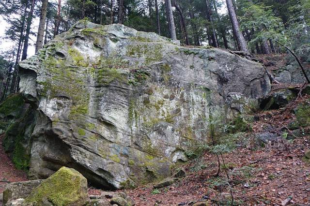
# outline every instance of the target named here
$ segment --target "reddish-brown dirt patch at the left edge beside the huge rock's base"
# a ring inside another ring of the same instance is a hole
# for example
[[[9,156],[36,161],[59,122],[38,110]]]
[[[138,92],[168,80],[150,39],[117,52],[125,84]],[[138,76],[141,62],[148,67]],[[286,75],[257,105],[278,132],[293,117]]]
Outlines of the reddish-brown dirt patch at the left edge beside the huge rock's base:
[[[11,159],[4,152],[2,139],[4,134],[0,135],[0,193],[4,189],[5,181],[17,182],[27,181],[27,174],[22,170],[17,170]]]

